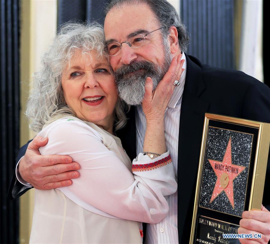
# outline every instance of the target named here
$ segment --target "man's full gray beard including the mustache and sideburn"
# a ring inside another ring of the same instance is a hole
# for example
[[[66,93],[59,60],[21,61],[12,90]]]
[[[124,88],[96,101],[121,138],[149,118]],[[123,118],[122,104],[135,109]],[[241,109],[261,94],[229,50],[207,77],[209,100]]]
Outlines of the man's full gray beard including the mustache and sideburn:
[[[114,72],[118,95],[129,105],[139,105],[144,98],[145,80],[147,77],[153,80],[153,90],[162,80],[171,64],[170,50],[165,47],[165,57],[162,67],[149,61],[134,61],[129,65],[123,65]],[[133,72],[132,74],[130,74]]]

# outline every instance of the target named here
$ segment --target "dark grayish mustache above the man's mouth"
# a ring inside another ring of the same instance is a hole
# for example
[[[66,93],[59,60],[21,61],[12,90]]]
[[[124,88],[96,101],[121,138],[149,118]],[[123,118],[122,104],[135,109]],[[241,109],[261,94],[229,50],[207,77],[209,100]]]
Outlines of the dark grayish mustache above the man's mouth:
[[[129,73],[132,72],[136,72],[138,70],[145,70],[145,72],[147,71],[151,71],[153,69],[155,69],[155,64],[149,62],[149,61],[133,61],[130,64],[123,64],[119,69],[117,69],[114,72],[114,78],[116,79],[120,79],[122,78],[124,75],[127,75]]]

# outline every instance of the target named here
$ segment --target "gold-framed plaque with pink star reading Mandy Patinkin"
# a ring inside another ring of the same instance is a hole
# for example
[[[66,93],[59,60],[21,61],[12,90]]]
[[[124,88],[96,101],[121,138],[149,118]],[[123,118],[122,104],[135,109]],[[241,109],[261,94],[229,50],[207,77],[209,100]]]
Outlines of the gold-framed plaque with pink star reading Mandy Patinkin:
[[[190,244],[240,243],[246,210],[261,209],[270,124],[205,114]]]

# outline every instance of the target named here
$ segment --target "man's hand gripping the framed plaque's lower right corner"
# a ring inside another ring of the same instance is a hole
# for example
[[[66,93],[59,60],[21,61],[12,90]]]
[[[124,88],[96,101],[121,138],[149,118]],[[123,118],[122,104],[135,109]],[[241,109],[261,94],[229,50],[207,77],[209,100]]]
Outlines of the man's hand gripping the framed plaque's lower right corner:
[[[262,234],[261,239],[239,239],[243,244],[267,244],[270,239],[270,212],[262,206],[261,211],[244,211],[240,220],[239,234]]]

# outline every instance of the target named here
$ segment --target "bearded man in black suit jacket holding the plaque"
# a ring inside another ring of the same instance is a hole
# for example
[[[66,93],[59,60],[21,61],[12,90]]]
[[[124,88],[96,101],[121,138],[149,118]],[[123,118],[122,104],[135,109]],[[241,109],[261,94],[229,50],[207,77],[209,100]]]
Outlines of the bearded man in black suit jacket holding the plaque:
[[[180,85],[174,90],[164,121],[166,146],[178,175],[178,192],[168,197],[168,215],[158,224],[148,224],[145,242],[188,243],[205,113],[270,123],[270,89],[242,72],[202,65],[185,54],[185,27],[166,0],[111,1],[104,32],[119,95],[135,105],[129,111],[128,124],[117,132],[130,158],[142,151],[146,121],[140,104],[145,79],[151,77],[156,88],[171,59],[183,52],[185,72],[176,83]],[[78,173],[66,171],[79,165],[71,163],[67,156],[38,155],[38,147],[46,143],[47,139],[36,138],[28,145],[18,174],[38,189],[70,185],[70,179],[78,177]],[[54,166],[46,166],[51,164]],[[267,170],[263,204],[270,208],[269,160]],[[13,197],[23,194],[26,187],[17,183]],[[267,243],[270,239],[270,213],[264,207],[262,211],[245,211],[240,226],[239,233],[262,233],[262,239],[243,239],[242,243]]]

